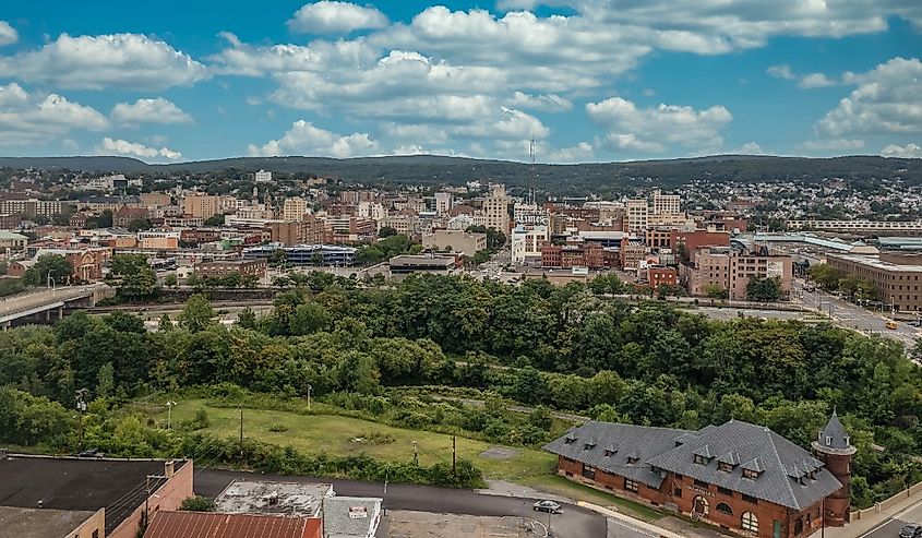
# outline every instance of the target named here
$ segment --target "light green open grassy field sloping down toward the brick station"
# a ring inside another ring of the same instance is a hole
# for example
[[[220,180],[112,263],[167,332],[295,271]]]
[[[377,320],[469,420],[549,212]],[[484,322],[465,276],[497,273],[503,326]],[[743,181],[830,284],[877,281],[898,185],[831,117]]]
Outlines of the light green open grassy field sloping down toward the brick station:
[[[208,414],[206,431],[220,438],[237,438],[240,428],[240,411],[232,408],[212,407],[204,399],[181,400],[172,410],[173,422],[191,420],[195,411]],[[166,413],[152,415],[166,421]],[[272,429],[285,431],[271,431]],[[412,442],[419,449],[419,462],[431,465],[436,462],[451,463],[452,438],[442,433],[407,430],[367,420],[338,415],[299,415],[296,413],[263,409],[243,409],[243,434],[262,442],[289,445],[309,454],[366,454],[390,462],[411,462]],[[386,443],[360,442],[374,435],[385,438]],[[508,459],[483,457],[481,453],[498,446],[482,441],[457,438],[458,458],[466,458],[480,468],[487,479],[507,480],[529,486],[549,493],[577,501],[587,501],[610,506],[625,514],[654,521],[661,514],[644,505],[619,499],[603,491],[574,483],[554,474],[556,457],[531,449],[515,447],[517,454]]]

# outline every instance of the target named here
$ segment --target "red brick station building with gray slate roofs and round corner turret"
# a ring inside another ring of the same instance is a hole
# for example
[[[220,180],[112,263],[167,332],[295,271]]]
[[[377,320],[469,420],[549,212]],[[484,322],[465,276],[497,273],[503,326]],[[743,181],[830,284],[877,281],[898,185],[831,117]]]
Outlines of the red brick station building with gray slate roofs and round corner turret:
[[[765,538],[848,521],[854,449],[835,415],[813,449],[737,420],[698,431],[590,421],[544,446],[567,478]]]

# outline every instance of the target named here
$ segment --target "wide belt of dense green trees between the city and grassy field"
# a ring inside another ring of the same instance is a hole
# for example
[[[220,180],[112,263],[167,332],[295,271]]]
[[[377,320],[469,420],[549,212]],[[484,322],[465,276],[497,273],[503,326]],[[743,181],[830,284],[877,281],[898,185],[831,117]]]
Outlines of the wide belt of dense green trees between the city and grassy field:
[[[129,314],[81,313],[53,330],[11,330],[0,333],[0,386],[28,391],[39,399],[15,405],[44,409],[41,397],[71,405],[76,387],[132,395],[235,383],[304,396],[311,385],[315,397],[332,397],[451,385],[602,420],[701,428],[737,418],[803,446],[836,407],[859,447],[857,502],[922,479],[910,457],[922,452],[922,373],[894,340],[828,324],[719,322],[543,279],[517,287],[435,276],[393,287],[359,284],[304,275],[276,296],[271,313],[243,311],[232,327],[216,323],[200,296],[190,299],[178,327],[161,321],[157,332]],[[3,404],[0,393],[3,405],[13,404]],[[404,423],[418,427],[423,419],[406,415]],[[484,435],[507,428],[488,431],[483,416],[464,420]],[[498,439],[526,443],[546,434],[502,431]],[[28,439],[0,433],[0,441]]]

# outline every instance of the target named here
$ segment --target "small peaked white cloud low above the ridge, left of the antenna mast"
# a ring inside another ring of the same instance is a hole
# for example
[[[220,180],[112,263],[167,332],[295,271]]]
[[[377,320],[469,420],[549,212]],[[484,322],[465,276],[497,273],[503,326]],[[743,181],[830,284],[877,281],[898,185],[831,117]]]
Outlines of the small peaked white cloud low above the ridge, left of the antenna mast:
[[[370,155],[379,147],[368,133],[337,134],[298,120],[280,139],[262,146],[251,144],[247,153],[253,156],[308,155],[346,158]]]

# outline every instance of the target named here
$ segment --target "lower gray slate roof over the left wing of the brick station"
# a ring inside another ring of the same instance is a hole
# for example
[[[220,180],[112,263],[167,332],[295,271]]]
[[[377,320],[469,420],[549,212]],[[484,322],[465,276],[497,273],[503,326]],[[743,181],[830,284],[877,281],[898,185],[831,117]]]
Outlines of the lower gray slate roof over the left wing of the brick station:
[[[675,447],[675,439],[694,433],[672,428],[588,421],[566,435],[551,441],[544,450],[607,473],[620,475],[659,488],[662,475],[654,471],[648,461]],[[568,439],[574,441],[567,443]],[[588,446],[587,446],[588,444]],[[616,452],[606,455],[609,449]],[[630,458],[637,458],[628,464]]]

